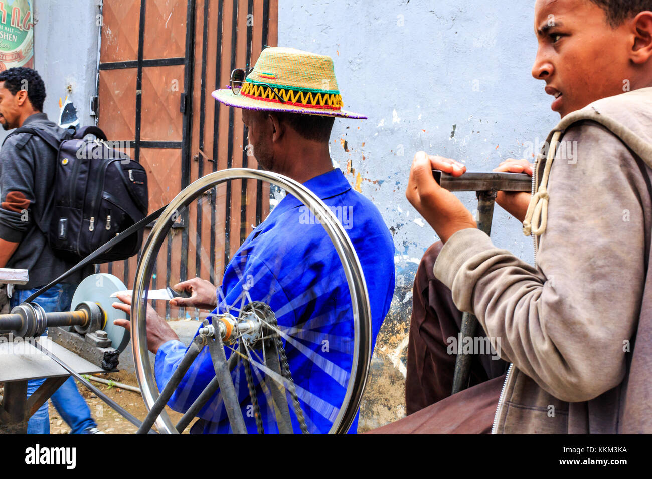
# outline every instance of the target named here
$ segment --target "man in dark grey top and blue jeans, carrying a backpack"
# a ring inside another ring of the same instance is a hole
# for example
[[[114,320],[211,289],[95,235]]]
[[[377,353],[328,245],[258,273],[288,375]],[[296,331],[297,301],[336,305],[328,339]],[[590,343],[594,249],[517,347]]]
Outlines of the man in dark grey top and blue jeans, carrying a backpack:
[[[45,85],[31,68],[9,68],[0,72],[0,124],[5,130],[30,125],[44,130],[59,141],[69,133],[42,113]],[[41,286],[74,265],[57,257],[48,244],[44,225],[52,215],[52,188],[57,153],[37,135],[9,136],[0,151],[0,267],[29,270],[29,282],[17,285],[10,295],[12,308],[25,301]],[[46,312],[70,310],[76,285],[90,274],[91,267],[71,274],[35,302]],[[28,396],[44,379],[29,381]],[[52,403],[73,434],[98,433],[91,411],[72,377],[53,394]],[[48,434],[48,403],[29,420],[28,434]]]

